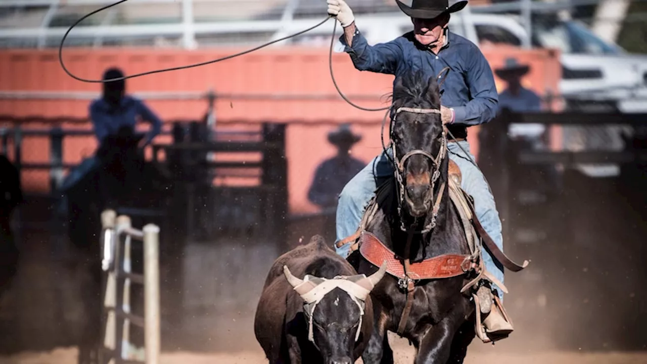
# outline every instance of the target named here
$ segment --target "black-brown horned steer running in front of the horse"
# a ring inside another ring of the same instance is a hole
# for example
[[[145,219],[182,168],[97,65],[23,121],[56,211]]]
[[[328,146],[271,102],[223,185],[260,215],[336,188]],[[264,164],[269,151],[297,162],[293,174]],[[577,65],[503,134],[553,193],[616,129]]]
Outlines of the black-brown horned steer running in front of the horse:
[[[369,293],[385,271],[358,275],[319,235],[277,258],[254,321],[269,362],[355,363],[371,336]]]

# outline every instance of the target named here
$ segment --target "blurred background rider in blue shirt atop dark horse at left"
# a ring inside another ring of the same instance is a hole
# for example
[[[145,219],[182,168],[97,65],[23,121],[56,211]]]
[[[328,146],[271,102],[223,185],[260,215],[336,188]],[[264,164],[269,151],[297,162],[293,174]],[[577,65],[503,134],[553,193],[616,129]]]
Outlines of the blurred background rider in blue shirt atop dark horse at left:
[[[124,77],[116,68],[105,71],[103,80]],[[126,95],[126,80],[104,82],[104,92],[90,104],[90,119],[94,134],[101,144],[108,135],[116,135],[122,126],[135,130],[138,117],[151,124],[151,130],[144,138],[143,146],[148,145],[162,129],[162,121],[149,109],[142,100]]]

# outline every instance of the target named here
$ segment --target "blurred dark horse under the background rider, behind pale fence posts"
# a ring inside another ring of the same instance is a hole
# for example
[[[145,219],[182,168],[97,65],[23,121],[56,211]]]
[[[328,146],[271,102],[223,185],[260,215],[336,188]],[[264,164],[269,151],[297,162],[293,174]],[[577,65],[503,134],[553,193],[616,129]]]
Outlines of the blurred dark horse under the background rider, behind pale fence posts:
[[[96,165],[65,190],[68,234],[78,254],[74,269],[83,280],[87,315],[79,344],[79,364],[97,363],[96,350],[102,334],[101,212],[124,207],[164,210],[172,193],[168,175],[144,159],[138,147],[142,137],[131,128],[122,128],[107,137],[96,152]],[[141,271],[141,266],[133,252],[133,269]],[[133,297],[131,301],[137,310],[138,299]]]

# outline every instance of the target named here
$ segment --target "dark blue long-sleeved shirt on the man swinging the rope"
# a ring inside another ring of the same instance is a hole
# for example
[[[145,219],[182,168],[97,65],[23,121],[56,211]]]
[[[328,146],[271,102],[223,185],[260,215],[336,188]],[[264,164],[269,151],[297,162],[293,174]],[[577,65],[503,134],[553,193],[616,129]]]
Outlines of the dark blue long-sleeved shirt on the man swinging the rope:
[[[351,47],[344,34],[340,41],[360,71],[400,76],[422,69],[426,77],[435,77],[444,67],[450,67],[441,85],[441,102],[454,108],[454,124],[472,126],[492,120],[498,109],[498,93],[489,63],[471,41],[450,31],[446,35],[445,45],[437,55],[418,43],[413,32],[373,46],[359,30],[353,35]]]

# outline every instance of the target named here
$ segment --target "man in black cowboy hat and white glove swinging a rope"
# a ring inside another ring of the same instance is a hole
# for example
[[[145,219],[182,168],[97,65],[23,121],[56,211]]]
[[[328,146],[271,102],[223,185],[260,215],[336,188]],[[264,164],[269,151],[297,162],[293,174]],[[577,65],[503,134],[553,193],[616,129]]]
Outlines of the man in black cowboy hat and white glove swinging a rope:
[[[448,141],[449,156],[461,170],[461,187],[474,198],[477,218],[502,250],[501,220],[494,197],[483,173],[472,163],[474,156],[466,155],[470,153],[466,141],[468,126],[489,122],[496,115],[498,95],[494,76],[478,47],[448,28],[450,14],[463,9],[467,1],[450,6],[448,0],[397,0],[400,10],[411,17],[413,31],[373,46],[368,45],[356,27],[353,11],[344,0],[327,0],[327,3],[328,14],[336,17],[344,28],[340,41],[356,69],[395,76],[422,70],[426,77],[445,77],[441,86],[441,119],[455,138]],[[450,68],[446,75],[440,74],[444,67]],[[337,241],[355,233],[363,209],[374,195],[377,179],[391,176],[393,166],[382,153],[347,183],[337,208]],[[349,245],[337,248],[337,253],[347,256]],[[485,249],[483,263],[503,282],[503,266]],[[505,337],[512,332],[512,324],[494,303],[489,304],[494,294],[503,298],[496,286],[486,284],[477,291],[479,301],[487,302],[481,310],[486,317],[483,325],[488,336]]]

